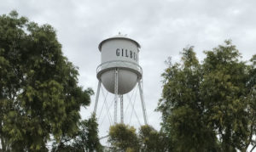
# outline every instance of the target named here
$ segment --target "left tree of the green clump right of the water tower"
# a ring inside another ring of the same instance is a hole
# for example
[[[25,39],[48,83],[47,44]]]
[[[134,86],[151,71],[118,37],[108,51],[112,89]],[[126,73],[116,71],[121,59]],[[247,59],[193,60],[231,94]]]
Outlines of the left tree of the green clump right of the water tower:
[[[216,136],[207,126],[204,102],[201,100],[201,65],[193,47],[183,49],[182,64],[172,65],[162,75],[164,87],[158,109],[162,113],[162,131],[174,151],[211,151]]]

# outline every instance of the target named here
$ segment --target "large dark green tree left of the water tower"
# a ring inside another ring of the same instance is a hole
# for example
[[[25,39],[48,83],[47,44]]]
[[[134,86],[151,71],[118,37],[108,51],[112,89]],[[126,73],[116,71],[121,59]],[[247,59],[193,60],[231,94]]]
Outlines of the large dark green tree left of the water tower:
[[[0,16],[0,138],[3,151],[47,151],[78,132],[81,106],[90,89],[78,86],[79,72],[63,56],[50,25],[13,11]]]

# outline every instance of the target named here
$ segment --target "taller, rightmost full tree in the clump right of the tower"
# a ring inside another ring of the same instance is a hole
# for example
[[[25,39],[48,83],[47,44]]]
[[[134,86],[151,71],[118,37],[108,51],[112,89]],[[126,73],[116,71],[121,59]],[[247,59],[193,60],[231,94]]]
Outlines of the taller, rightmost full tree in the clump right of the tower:
[[[248,66],[230,41],[207,51],[203,63],[201,97],[208,121],[216,130],[223,151],[245,151],[248,137]]]

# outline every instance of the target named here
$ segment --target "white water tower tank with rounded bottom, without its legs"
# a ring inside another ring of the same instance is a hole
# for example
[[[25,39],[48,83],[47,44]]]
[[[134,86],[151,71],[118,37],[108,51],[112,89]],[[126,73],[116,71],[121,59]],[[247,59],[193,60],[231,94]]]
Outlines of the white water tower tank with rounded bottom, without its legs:
[[[115,71],[118,70],[118,94],[129,93],[141,80],[143,70],[138,65],[140,44],[124,35],[103,40],[99,44],[102,64],[97,78],[110,93],[114,93]]]

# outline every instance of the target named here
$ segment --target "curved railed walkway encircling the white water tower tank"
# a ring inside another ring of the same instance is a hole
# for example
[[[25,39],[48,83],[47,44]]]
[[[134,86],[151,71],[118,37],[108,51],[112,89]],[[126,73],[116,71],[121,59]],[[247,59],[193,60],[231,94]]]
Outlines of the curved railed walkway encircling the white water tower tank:
[[[102,70],[106,70],[109,68],[129,68],[132,70],[136,70],[141,75],[143,74],[143,68],[140,65],[137,65],[136,63],[130,62],[130,61],[124,61],[124,60],[113,60],[104,62],[101,65],[98,65],[96,72],[99,73]]]

